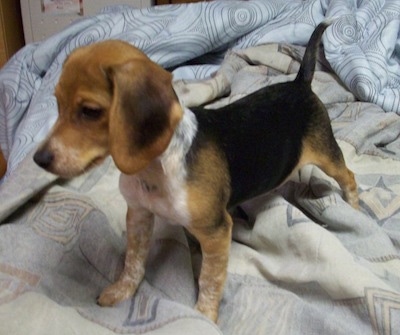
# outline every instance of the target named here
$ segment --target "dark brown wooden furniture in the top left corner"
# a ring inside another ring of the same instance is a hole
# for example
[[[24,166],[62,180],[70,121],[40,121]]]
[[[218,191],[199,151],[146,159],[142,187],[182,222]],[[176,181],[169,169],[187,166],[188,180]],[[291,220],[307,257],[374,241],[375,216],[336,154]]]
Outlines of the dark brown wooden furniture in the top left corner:
[[[20,2],[0,2],[0,67],[25,44],[22,29]]]

